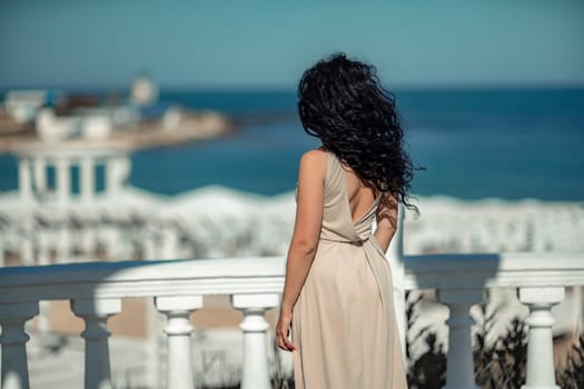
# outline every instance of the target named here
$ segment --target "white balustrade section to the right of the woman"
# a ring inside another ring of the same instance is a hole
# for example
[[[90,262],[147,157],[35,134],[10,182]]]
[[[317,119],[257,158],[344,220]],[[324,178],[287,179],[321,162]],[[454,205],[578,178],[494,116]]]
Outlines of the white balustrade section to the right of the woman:
[[[528,377],[525,388],[556,388],[551,357],[551,308],[562,301],[565,287],[584,285],[583,257],[583,252],[406,256],[405,288],[436,289],[441,301],[451,308],[447,363],[456,368],[447,369],[446,387],[475,387],[467,315],[468,308],[481,301],[476,288],[513,287],[519,289],[519,300],[532,311],[526,321]],[[455,349],[451,351],[453,343]]]

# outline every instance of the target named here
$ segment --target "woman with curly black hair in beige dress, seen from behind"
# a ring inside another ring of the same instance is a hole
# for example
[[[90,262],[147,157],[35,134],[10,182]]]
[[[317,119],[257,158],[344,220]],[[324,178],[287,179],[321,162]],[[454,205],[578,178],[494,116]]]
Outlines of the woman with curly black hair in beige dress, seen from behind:
[[[295,352],[296,388],[406,388],[384,253],[397,203],[416,207],[393,96],[373,66],[334,54],[304,73],[298,98],[323,146],[300,159],[277,346]]]

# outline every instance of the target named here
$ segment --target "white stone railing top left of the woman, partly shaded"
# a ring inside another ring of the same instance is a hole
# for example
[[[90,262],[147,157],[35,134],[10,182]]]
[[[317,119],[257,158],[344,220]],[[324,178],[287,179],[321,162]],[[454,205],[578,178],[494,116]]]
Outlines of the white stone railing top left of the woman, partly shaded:
[[[277,293],[281,257],[83,262],[0,269],[0,303],[91,298]]]

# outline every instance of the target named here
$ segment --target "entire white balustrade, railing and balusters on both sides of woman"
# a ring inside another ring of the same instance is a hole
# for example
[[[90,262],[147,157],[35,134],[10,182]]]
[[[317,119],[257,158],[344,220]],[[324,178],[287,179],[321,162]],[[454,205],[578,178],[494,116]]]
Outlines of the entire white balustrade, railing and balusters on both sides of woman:
[[[406,256],[404,290],[435,289],[451,308],[447,388],[475,387],[468,309],[483,290],[518,288],[529,306],[526,389],[555,388],[551,307],[564,288],[584,286],[584,253],[499,253],[472,256]],[[190,312],[202,296],[230,295],[244,312],[242,388],[268,388],[267,309],[277,305],[284,286],[284,258],[235,258],[88,262],[0,269],[3,388],[28,386],[23,325],[38,315],[39,300],[73,300],[86,320],[86,387],[108,388],[107,318],[119,311],[121,298],[155,298],[167,317],[169,388],[195,386]],[[30,302],[34,301],[34,302]],[[398,312],[399,313],[399,312]],[[402,335],[404,336],[404,333]],[[89,366],[91,369],[89,369]]]

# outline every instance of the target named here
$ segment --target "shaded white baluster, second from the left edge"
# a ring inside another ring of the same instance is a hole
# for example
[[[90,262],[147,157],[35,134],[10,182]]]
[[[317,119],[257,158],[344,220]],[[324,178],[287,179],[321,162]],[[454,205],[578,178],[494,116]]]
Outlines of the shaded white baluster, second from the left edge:
[[[71,300],[71,310],[83,319],[86,329],[81,337],[86,341],[85,388],[110,389],[108,318],[121,311],[120,299]]]

